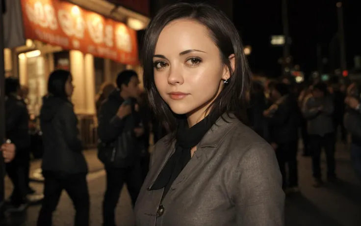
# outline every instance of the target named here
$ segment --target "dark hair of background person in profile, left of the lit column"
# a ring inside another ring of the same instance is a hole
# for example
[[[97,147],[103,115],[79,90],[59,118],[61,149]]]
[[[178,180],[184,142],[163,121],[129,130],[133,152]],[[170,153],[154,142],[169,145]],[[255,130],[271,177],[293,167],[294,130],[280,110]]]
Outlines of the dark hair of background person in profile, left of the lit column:
[[[49,76],[48,94],[54,97],[68,99],[65,92],[66,81],[72,74],[66,70],[55,70]]]

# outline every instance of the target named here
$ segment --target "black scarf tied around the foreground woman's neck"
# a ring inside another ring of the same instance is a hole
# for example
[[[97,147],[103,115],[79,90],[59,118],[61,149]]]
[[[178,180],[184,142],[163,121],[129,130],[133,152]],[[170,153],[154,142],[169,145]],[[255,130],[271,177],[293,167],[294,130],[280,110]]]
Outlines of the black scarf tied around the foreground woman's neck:
[[[207,116],[191,128],[188,128],[186,120],[180,121],[176,136],[176,151],[160,171],[151,188],[151,190],[164,188],[162,199],[169,191],[174,180],[191,159],[190,150],[192,147],[196,146],[202,140],[214,122],[214,120],[210,120]]]

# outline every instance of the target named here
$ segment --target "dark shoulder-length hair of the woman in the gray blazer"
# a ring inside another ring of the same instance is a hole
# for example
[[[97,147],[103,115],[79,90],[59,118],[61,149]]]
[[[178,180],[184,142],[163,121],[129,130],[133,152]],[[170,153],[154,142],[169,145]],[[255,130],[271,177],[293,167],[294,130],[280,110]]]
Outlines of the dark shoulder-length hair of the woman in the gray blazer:
[[[232,21],[221,11],[205,3],[175,3],[164,7],[148,25],[143,37],[142,63],[144,67],[144,88],[155,115],[163,119],[171,131],[177,129],[177,115],[161,98],[154,80],[153,57],[155,46],[163,28],[175,20],[187,19],[200,23],[208,29],[209,36],[217,45],[221,59],[231,72],[228,84],[209,108],[210,118],[219,118],[223,113],[234,113],[242,120],[246,93],[250,88],[250,70],[244,55],[241,39]],[[234,54],[232,69],[229,57]]]

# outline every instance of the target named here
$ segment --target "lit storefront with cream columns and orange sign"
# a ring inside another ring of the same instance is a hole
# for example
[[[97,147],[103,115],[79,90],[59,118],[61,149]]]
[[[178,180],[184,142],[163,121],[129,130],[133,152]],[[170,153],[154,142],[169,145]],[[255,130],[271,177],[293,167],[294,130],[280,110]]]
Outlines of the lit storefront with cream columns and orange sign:
[[[103,0],[96,3],[102,14],[110,7]],[[114,82],[126,68],[140,71],[135,29],[146,26],[144,16],[112,12],[112,18],[123,18],[125,23],[121,23],[64,0],[21,0],[21,7],[26,45],[4,51],[5,72],[28,86],[31,114],[39,114],[54,69],[72,73],[73,103],[79,115],[95,114],[95,96],[103,82]]]

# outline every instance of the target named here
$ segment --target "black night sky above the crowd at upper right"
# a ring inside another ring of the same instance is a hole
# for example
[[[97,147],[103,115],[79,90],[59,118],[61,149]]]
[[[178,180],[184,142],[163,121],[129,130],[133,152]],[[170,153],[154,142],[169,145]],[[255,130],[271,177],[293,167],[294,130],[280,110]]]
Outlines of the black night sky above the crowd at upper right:
[[[291,56],[307,74],[317,69],[317,43],[322,48],[322,57],[330,57],[330,43],[338,29],[338,1],[288,0]],[[283,33],[282,0],[234,0],[233,4],[234,24],[244,45],[252,46],[249,62],[253,71],[279,76],[278,59],[283,50],[270,44],[270,36]],[[343,0],[343,7],[347,66],[352,69],[353,57],[361,55],[361,0]],[[327,64],[324,67],[326,72],[329,68]]]

